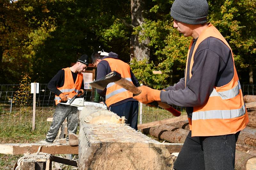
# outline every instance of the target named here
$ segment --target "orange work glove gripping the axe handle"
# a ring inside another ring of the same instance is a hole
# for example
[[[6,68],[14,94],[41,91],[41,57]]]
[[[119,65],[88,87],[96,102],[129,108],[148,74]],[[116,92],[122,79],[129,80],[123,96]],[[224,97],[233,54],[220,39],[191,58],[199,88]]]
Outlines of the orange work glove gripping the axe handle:
[[[141,93],[137,96],[133,96],[133,99],[138,100],[139,102],[144,104],[148,104],[153,101],[161,101],[161,90],[151,89],[147,86],[140,86],[138,88],[141,90]]]

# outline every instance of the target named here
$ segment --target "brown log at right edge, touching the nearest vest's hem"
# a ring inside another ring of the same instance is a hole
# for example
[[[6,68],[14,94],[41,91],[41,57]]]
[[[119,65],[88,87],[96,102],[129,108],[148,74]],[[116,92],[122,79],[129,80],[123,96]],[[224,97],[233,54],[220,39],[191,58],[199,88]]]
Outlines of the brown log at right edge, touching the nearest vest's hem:
[[[237,144],[256,146],[256,130],[246,127],[239,134]]]

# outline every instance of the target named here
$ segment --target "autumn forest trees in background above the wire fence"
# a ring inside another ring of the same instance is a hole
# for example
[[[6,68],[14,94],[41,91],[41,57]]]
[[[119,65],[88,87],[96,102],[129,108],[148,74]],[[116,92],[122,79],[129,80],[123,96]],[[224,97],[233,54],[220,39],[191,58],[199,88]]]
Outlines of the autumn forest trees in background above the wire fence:
[[[48,83],[93,51],[113,51],[146,85],[184,76],[191,37],[173,28],[173,0],[0,0],[0,84]],[[208,0],[208,20],[231,46],[241,84],[256,81],[256,0]],[[152,70],[163,74],[153,74]],[[160,88],[160,86],[158,86]]]

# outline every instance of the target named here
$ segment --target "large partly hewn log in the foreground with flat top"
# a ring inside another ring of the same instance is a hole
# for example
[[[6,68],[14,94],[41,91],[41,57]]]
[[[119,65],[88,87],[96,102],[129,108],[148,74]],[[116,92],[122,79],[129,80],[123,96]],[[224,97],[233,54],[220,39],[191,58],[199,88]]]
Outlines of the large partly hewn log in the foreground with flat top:
[[[172,169],[173,160],[164,144],[128,125],[107,121],[86,123],[88,117],[95,120],[96,112],[120,118],[108,110],[84,107],[79,117],[79,169]]]

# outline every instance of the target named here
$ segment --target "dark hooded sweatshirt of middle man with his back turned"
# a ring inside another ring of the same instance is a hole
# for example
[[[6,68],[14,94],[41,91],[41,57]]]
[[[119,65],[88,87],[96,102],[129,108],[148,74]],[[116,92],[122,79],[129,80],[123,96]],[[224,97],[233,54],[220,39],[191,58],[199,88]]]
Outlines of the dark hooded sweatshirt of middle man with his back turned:
[[[108,56],[104,56],[102,58],[102,60],[100,61],[100,63],[98,64],[97,66],[97,80],[102,78],[102,77],[105,77],[107,74],[111,73],[112,70],[109,66],[109,63],[108,61],[106,60],[103,60],[105,58],[114,58],[116,60],[119,60],[118,59],[118,55],[116,53],[113,53],[113,52],[110,52],[108,54]],[[140,86],[140,83],[139,81],[137,80],[137,78],[135,77],[135,75],[132,73],[132,70],[130,69],[130,74],[131,74],[131,79],[132,79],[132,83],[136,86],[136,87],[139,87]],[[106,96],[106,91],[107,91],[107,88],[105,88],[104,90],[99,90],[97,89],[97,93],[100,94],[100,96],[104,97]],[[128,102],[128,101],[135,101],[133,98],[129,98],[129,99],[125,99],[125,100],[122,100],[120,102],[117,102],[117,103],[114,103],[112,104],[111,106],[117,106],[119,104],[122,104],[124,102]],[[110,107],[111,107],[110,106]]]

